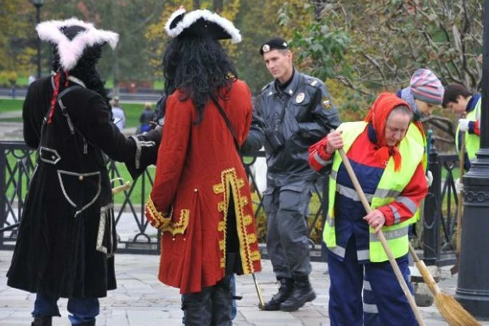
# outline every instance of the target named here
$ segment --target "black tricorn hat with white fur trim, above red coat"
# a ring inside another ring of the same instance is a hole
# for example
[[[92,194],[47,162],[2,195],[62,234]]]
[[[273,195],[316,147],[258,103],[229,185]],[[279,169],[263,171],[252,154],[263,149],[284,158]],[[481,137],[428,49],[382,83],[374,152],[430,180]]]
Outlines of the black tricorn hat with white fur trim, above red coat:
[[[217,40],[231,39],[231,43],[241,42],[241,35],[231,21],[208,10],[186,12],[180,8],[167,23],[165,31],[170,37],[211,37]]]

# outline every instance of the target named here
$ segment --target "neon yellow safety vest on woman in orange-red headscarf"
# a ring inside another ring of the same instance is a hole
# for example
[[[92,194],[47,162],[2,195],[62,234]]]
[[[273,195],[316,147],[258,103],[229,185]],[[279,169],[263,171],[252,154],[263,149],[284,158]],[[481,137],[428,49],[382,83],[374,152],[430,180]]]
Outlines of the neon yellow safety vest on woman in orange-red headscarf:
[[[359,121],[342,123],[338,127],[337,130],[343,130],[343,148],[345,152],[348,152],[351,145],[365,130],[366,126],[366,122]],[[408,185],[416,169],[418,168],[419,163],[423,159],[423,147],[419,145],[416,141],[413,141],[413,139],[406,137],[399,144],[399,152],[401,153],[400,171],[394,171],[394,160],[391,157],[388,161],[386,169],[384,170],[384,173],[382,174],[381,180],[377,185],[375,194],[367,195],[367,198],[371,201],[371,207],[373,209],[388,205],[394,201],[398,201],[404,204],[410,210],[414,209],[414,207],[416,206],[416,204],[411,201],[411,199],[407,197],[399,197],[399,195],[402,193],[405,186]],[[326,223],[324,225],[323,241],[326,243],[329,250],[340,257],[344,257],[345,248],[336,245],[334,214],[336,193],[342,191],[343,194],[349,194],[349,198],[351,199],[358,198],[358,195],[351,194],[349,191],[350,188],[348,187],[337,185],[336,177],[340,165],[341,157],[339,155],[334,155],[328,194],[328,215],[326,216]],[[398,217],[398,220],[399,219],[400,216]],[[414,222],[416,222],[414,219],[409,219],[408,221],[382,228],[382,231],[386,235],[386,240],[395,258],[401,257],[408,253],[408,228],[409,225]],[[362,251],[361,253],[357,252],[357,255],[361,255],[362,259],[370,258],[371,262],[387,261],[387,255],[385,254],[384,249],[382,248],[382,244],[378,240],[377,235],[373,232],[372,228],[369,228],[369,232],[369,250]]]

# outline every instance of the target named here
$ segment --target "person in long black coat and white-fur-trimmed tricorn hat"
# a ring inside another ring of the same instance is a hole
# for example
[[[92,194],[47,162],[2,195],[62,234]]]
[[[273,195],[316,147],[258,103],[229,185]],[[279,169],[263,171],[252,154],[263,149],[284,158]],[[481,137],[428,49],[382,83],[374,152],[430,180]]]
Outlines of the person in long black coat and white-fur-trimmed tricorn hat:
[[[33,326],[51,326],[68,298],[72,325],[95,325],[99,297],[116,288],[117,236],[106,156],[133,175],[156,157],[155,129],[126,138],[112,121],[96,64],[118,34],[75,18],[37,25],[53,45],[52,75],[32,83],[23,105],[25,143],[37,165],[25,199],[7,284],[36,293]]]

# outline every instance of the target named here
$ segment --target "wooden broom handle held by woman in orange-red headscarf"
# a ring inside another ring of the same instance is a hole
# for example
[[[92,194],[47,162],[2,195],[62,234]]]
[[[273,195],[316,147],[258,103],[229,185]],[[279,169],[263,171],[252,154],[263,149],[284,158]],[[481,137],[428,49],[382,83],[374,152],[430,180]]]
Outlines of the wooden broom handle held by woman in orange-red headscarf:
[[[355,186],[355,190],[357,191],[358,196],[360,197],[360,201],[362,202],[363,207],[365,208],[367,213],[370,213],[372,211],[372,208],[370,207],[370,204],[368,203],[367,198],[365,197],[365,193],[363,192],[362,187],[358,182],[357,176],[355,175],[355,171],[353,171],[353,168],[351,167],[350,160],[348,159],[348,157],[346,157],[344,149],[340,148],[338,149],[338,152],[341,156],[341,160],[343,161],[343,165],[345,166],[346,172],[348,172],[351,182]],[[406,298],[408,298],[409,305],[413,310],[416,320],[418,321],[420,326],[425,326],[423,318],[421,317],[418,307],[416,306],[416,302],[414,301],[414,297],[411,294],[411,291],[409,290],[408,284],[406,284],[406,281],[402,276],[401,270],[399,269],[399,266],[397,265],[397,262],[394,256],[392,255],[391,249],[387,244],[387,240],[382,230],[378,230],[377,237],[381,241],[382,247],[384,248],[387,257],[389,258],[389,262],[391,263],[392,269],[394,269],[394,274],[396,275],[397,281],[399,282],[402,291],[404,292],[404,295],[406,296]]]

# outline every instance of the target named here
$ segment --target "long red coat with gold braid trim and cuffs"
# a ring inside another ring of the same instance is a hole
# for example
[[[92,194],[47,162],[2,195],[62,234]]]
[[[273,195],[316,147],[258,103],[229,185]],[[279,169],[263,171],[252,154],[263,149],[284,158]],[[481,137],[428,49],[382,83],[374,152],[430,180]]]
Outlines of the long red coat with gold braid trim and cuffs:
[[[236,80],[227,96],[219,101],[242,144],[252,120],[251,93]],[[176,91],[167,99],[146,215],[162,230],[159,280],[189,293],[224,277],[229,200],[235,203],[244,274],[261,266],[248,177],[232,134],[212,101],[203,121],[194,124],[197,110],[182,98]]]

